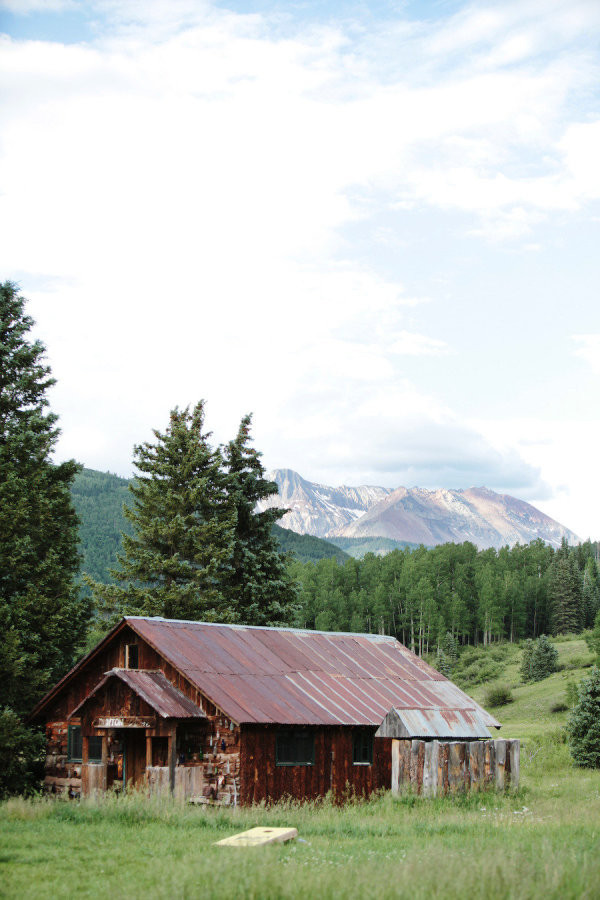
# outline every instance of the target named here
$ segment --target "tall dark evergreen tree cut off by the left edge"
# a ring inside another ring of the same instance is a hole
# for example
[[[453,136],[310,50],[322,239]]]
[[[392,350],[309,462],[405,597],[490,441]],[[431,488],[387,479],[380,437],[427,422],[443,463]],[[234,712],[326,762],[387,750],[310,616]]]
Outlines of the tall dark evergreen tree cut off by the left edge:
[[[0,285],[0,707],[23,715],[71,666],[89,618],[79,597],[73,461],[59,430],[45,347],[16,285]]]

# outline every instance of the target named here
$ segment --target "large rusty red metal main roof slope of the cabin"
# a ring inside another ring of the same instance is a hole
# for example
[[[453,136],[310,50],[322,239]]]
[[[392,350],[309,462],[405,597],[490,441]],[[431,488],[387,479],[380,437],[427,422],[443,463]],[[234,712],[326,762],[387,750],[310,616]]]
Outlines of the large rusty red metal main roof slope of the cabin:
[[[238,723],[375,725],[390,709],[476,710],[395,638],[128,616],[127,624]]]

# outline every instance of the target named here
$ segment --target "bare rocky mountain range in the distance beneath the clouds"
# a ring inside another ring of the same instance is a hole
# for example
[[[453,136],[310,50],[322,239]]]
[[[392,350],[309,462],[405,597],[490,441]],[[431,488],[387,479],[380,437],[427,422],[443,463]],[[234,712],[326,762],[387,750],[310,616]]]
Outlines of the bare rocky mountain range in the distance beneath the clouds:
[[[553,547],[560,546],[563,538],[570,544],[579,541],[576,534],[529,503],[483,487],[332,488],[306,481],[290,469],[276,469],[269,477],[277,483],[279,496],[263,506],[288,508],[281,519],[283,526],[333,543],[339,538],[351,540],[342,545],[350,553],[354,542],[366,538],[429,546],[472,541],[480,549],[538,538]]]

